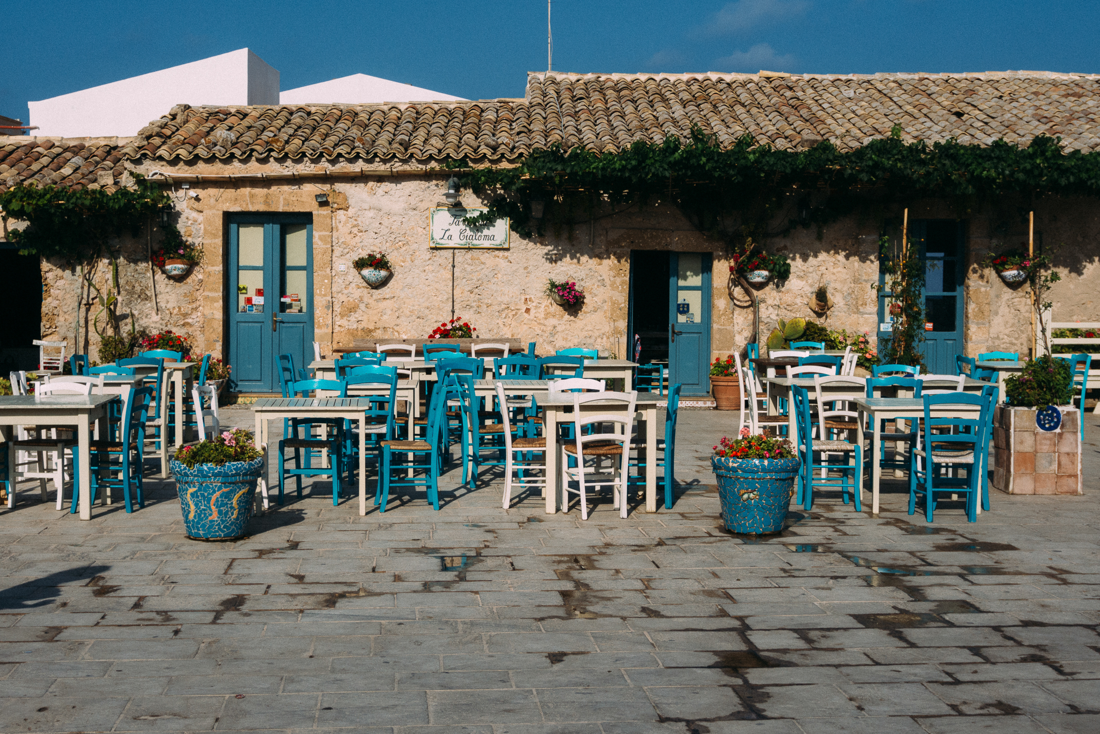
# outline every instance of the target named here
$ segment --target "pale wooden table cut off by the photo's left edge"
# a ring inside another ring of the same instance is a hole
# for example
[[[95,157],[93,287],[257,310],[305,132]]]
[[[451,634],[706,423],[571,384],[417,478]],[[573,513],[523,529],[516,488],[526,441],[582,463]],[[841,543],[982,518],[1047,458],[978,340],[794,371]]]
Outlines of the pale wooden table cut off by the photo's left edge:
[[[8,441],[8,467],[12,478],[9,506],[15,499],[15,426],[76,426],[80,462],[80,519],[91,519],[91,423],[107,417],[107,406],[117,395],[3,395],[0,396],[0,435]],[[75,484],[75,482],[74,482]],[[74,492],[76,494],[76,492]]]

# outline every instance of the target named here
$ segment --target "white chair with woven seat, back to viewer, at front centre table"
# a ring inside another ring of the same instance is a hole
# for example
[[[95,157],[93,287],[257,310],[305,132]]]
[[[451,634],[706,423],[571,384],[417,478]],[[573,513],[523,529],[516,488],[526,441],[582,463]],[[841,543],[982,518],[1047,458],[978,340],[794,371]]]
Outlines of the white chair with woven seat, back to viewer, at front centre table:
[[[573,393],[574,438],[562,445],[562,461],[560,465],[565,472],[562,483],[565,496],[563,512],[569,512],[569,495],[581,497],[581,519],[588,519],[588,486],[610,486],[614,506],[619,510],[619,516],[626,517],[627,480],[626,471],[630,454],[630,434],[634,426],[635,403],[638,392],[629,393]],[[581,406],[593,401],[607,401],[606,413],[582,413]],[[592,432],[585,434],[586,426],[592,426]],[[610,428],[609,431],[604,429]],[[576,465],[569,467],[565,454],[576,458]],[[593,463],[585,464],[585,458]],[[608,464],[602,465],[603,460]],[[569,482],[575,481],[578,489],[570,489]]]

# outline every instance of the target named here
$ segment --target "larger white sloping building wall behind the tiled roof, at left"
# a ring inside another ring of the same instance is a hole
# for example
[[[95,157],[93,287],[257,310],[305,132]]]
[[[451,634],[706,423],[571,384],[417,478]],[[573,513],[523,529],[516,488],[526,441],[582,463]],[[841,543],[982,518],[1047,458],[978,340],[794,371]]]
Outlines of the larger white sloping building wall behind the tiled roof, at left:
[[[135,135],[174,106],[278,105],[278,70],[248,48],[29,102],[35,134]]]

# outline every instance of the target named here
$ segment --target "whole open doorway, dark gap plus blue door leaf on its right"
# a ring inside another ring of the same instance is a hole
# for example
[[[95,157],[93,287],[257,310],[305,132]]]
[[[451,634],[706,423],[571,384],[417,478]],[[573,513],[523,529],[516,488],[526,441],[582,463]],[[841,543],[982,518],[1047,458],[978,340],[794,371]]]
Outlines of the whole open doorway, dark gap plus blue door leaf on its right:
[[[667,362],[684,396],[711,392],[711,263],[708,252],[630,253],[628,357],[637,337],[636,361]]]

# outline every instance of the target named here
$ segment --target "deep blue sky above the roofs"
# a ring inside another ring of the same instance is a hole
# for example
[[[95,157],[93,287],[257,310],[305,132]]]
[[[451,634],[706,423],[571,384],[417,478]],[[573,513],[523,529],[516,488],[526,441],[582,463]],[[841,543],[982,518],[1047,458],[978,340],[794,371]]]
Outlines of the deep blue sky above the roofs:
[[[546,0],[0,0],[0,114],[242,47],[283,89],[363,73],[522,97],[547,66],[546,21]],[[553,68],[1097,73],[1097,0],[554,0]]]

